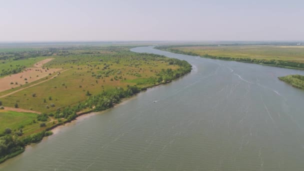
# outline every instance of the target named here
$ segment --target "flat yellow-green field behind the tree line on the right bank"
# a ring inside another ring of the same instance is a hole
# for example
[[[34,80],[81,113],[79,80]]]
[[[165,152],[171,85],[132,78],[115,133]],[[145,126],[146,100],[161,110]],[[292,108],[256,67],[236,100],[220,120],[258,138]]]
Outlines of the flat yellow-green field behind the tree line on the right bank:
[[[275,46],[275,45],[225,45],[225,46],[189,46],[175,47],[184,52],[199,55],[224,57],[239,57],[266,60],[286,60],[304,63],[304,46]]]

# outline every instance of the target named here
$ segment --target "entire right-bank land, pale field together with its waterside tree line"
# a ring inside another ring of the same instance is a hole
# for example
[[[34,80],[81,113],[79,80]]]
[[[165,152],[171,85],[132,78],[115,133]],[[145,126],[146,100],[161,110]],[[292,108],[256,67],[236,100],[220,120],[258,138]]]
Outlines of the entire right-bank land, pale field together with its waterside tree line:
[[[213,59],[304,69],[304,46],[204,45],[181,47],[178,45],[155,48]]]

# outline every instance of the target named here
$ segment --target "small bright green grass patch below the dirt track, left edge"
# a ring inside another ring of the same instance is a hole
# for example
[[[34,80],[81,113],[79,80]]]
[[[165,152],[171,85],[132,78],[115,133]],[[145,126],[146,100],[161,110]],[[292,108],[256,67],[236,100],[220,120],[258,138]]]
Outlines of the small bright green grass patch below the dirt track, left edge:
[[[33,127],[39,128],[39,123],[32,123],[36,119],[36,113],[16,112],[0,109],[0,132],[6,127],[13,131],[22,128],[23,132]]]

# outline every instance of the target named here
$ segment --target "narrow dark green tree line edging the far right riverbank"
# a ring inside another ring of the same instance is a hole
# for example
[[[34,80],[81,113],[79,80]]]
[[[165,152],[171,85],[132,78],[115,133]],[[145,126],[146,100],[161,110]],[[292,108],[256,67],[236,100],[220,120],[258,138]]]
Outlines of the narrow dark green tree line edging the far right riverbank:
[[[171,47],[172,46],[156,46],[155,48],[161,49],[161,50],[171,51],[173,53],[199,56],[199,54],[197,54],[197,53],[193,53],[193,52],[190,52],[190,51],[186,52],[186,51],[182,51],[182,50],[179,50],[179,49],[172,49]],[[208,55],[208,54],[204,54],[200,57],[220,59],[220,60],[234,60],[234,61],[240,61],[240,62],[265,64],[265,65],[278,66],[278,67],[290,67],[290,68],[304,69],[304,63],[285,61],[285,60],[274,60],[274,59],[265,60],[265,59],[254,59],[254,58],[251,59],[251,58],[240,58],[240,57],[225,57],[225,56],[213,56],[213,55]]]

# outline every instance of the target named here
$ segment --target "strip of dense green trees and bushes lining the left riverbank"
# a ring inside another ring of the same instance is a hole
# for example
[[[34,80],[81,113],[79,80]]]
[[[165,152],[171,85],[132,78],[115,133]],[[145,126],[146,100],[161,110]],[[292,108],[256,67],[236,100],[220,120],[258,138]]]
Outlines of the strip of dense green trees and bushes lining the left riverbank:
[[[58,126],[69,123],[81,115],[85,115],[85,114],[88,114],[91,112],[104,111],[106,109],[112,108],[115,105],[119,104],[120,102],[123,102],[125,99],[129,99],[129,97],[132,97],[135,94],[146,90],[147,88],[171,82],[172,80],[175,80],[175,79],[185,75],[186,73],[190,72],[192,69],[191,65],[186,61],[181,61],[178,59],[170,58],[168,60],[168,62],[169,62],[169,65],[175,64],[177,66],[180,66],[180,68],[175,69],[175,70],[172,70],[170,68],[167,68],[166,70],[161,69],[160,72],[158,72],[157,76],[159,76],[159,75],[160,76],[157,80],[156,80],[156,78],[150,77],[150,79],[153,80],[153,82],[154,82],[153,84],[148,84],[146,86],[141,85],[140,87],[137,87],[136,85],[127,85],[126,89],[124,89],[122,87],[115,87],[115,88],[113,87],[112,89],[103,90],[102,92],[97,93],[95,95],[89,94],[87,91],[88,98],[86,100],[81,101],[78,104],[75,104],[73,106],[67,106],[67,107],[61,108],[61,109],[58,108],[55,111],[55,113],[48,113],[48,116],[51,118],[54,118],[54,119],[44,123],[44,126],[46,126],[44,128],[44,130],[42,130],[40,132],[35,132],[33,134],[30,134],[30,135],[27,135],[27,136],[21,137],[21,138],[18,138],[17,136],[13,136],[13,135],[9,135],[9,134],[2,136],[3,138],[6,138],[6,136],[9,136],[9,138],[11,138],[13,141],[16,141],[16,142],[18,140],[20,140],[20,143],[15,143],[13,145],[13,148],[11,148],[11,150],[9,150],[11,152],[8,152],[6,155],[1,157],[0,161],[3,162],[8,158],[17,155],[17,154],[15,154],[15,152],[17,152],[19,150],[14,150],[14,149],[24,148],[24,147],[26,147],[26,145],[28,145],[30,143],[40,142],[44,136],[48,136],[51,134],[49,132],[50,130],[53,130],[54,128],[56,128]],[[46,115],[46,114],[42,114],[42,115]],[[41,127],[41,125],[40,125],[40,127]],[[11,155],[11,154],[15,154],[15,155]]]

